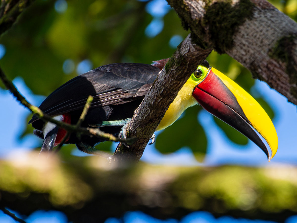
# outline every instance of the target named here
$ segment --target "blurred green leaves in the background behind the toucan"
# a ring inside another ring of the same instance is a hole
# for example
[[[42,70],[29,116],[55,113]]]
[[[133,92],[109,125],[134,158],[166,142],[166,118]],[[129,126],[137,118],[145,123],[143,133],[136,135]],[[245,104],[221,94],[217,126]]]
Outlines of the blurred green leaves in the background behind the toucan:
[[[271,0],[278,9],[291,18],[297,18],[295,0]],[[71,59],[75,67],[89,59],[93,67],[115,62],[150,64],[154,60],[170,57],[174,48],[169,40],[174,35],[182,38],[185,31],[174,10],[164,17],[164,28],[155,37],[145,35],[145,30],[154,19],[146,6],[148,2],[136,0],[71,0],[67,10],[57,12],[54,0],[35,1],[25,10],[18,22],[1,36],[0,43],[6,54],[0,65],[10,79],[22,76],[34,94],[49,95],[60,85],[77,75],[76,70],[63,72],[63,63]],[[212,52],[208,56],[211,66],[225,73],[248,92],[254,84],[248,70],[228,55]],[[0,87],[3,87],[0,83]],[[258,102],[273,118],[274,112],[261,97]],[[188,109],[183,117],[159,134],[156,147],[162,153],[170,153],[181,147],[189,147],[198,157],[207,148],[206,136],[197,121],[200,108]],[[226,136],[235,143],[247,144],[247,138],[215,118]],[[32,127],[22,136],[31,134]],[[97,148],[110,150],[111,143]],[[74,148],[72,146],[71,148]],[[67,146],[70,148],[70,146]],[[65,151],[67,154],[68,151]]]

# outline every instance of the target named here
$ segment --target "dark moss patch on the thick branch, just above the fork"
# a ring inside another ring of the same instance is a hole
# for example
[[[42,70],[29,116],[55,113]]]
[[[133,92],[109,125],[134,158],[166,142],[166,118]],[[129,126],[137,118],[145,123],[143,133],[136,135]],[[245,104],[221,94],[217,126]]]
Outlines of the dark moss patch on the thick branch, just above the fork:
[[[206,5],[203,25],[209,27],[214,48],[219,54],[232,47],[238,26],[252,17],[253,9],[250,0],[240,0],[234,5],[231,0],[219,0]]]

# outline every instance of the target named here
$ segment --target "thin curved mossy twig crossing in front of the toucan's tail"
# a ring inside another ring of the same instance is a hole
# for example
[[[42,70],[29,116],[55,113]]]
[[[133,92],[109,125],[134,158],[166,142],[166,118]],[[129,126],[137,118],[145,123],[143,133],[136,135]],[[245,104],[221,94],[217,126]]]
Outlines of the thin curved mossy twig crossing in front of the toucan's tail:
[[[2,71],[1,67],[0,67],[0,79],[4,83],[5,87],[7,87],[7,89],[9,89],[10,92],[12,92],[15,98],[17,98],[17,100],[20,101],[22,105],[30,109],[31,112],[36,114],[37,117],[39,117],[44,122],[51,122],[53,124],[56,124],[60,128],[64,128],[66,131],[69,131],[69,132],[78,132],[80,134],[85,134],[85,135],[94,135],[94,136],[105,138],[109,141],[114,141],[114,142],[132,143],[135,140],[135,139],[119,139],[113,136],[112,134],[105,133],[103,131],[100,131],[97,128],[82,128],[77,125],[69,125],[67,123],[57,121],[52,117],[50,117],[49,115],[43,113],[38,107],[30,104],[26,100],[26,98],[24,98],[23,95],[21,95],[20,92],[18,92],[18,89],[16,89],[15,85],[10,80],[8,80],[8,78],[5,76],[4,72]]]

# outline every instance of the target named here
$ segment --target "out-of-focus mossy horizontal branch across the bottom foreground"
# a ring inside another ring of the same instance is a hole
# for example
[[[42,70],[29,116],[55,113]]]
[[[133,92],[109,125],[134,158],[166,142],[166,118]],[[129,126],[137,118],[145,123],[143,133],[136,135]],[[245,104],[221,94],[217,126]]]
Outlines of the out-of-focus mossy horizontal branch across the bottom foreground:
[[[65,162],[66,161],[66,162]],[[0,161],[1,206],[29,215],[59,210],[69,221],[104,222],[125,211],[181,218],[195,210],[215,216],[284,221],[297,213],[297,169],[176,167],[139,163],[124,169],[103,158],[60,160],[38,152]],[[91,219],[96,219],[92,221]]]

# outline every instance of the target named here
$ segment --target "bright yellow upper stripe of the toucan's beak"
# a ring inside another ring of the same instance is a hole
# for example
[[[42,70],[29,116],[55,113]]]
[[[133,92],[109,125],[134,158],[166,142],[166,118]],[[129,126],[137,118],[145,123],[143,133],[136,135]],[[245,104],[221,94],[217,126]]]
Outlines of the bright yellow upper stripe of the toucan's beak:
[[[268,114],[259,105],[259,103],[238,84],[236,84],[234,81],[232,81],[230,78],[228,78],[218,70],[214,68],[212,68],[212,70],[236,97],[244,114],[248,118],[249,123],[266,140],[271,149],[271,156],[269,160],[273,158],[277,152],[278,138],[277,132],[271,119],[268,117]]]

